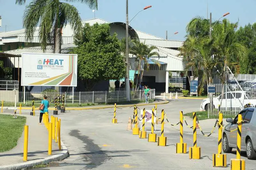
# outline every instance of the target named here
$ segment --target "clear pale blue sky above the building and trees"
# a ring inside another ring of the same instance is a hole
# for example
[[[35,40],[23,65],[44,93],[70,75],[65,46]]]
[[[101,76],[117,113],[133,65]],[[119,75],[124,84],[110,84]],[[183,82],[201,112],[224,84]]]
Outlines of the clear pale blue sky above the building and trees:
[[[27,0],[26,5],[29,2]],[[126,0],[99,0],[95,17],[110,22],[125,22],[125,2]],[[239,18],[239,26],[256,22],[256,0],[129,0],[129,19],[143,7],[152,5],[152,8],[140,12],[130,25],[134,29],[162,38],[165,38],[167,30],[169,40],[184,40],[185,28],[191,18],[197,15],[207,18],[207,2],[208,12],[212,12],[213,20],[230,12],[226,18],[231,22],[236,22]],[[79,10],[82,20],[93,18],[92,10],[85,4],[71,4]],[[15,5],[15,0],[0,0],[0,9],[0,32],[5,31],[4,25],[7,25],[7,31],[22,29],[25,5]],[[179,33],[174,35],[176,31]]]

